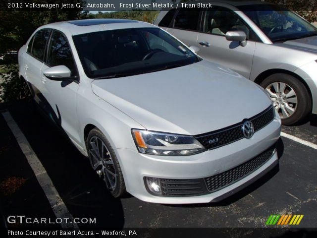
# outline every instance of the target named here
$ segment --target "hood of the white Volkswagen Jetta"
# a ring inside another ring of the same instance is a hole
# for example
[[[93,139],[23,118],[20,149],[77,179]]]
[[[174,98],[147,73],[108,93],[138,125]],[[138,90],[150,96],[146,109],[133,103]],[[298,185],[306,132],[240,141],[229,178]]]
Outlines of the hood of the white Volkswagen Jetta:
[[[191,135],[238,123],[270,105],[258,85],[207,60],[94,80],[92,90],[148,130]]]

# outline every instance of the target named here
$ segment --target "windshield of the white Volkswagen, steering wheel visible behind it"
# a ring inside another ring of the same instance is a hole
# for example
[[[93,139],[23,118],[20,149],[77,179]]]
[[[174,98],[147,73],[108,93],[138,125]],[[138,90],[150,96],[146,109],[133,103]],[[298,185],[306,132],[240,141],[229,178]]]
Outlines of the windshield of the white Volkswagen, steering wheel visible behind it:
[[[179,67],[200,59],[159,28],[132,28],[73,36],[84,70],[103,79]]]

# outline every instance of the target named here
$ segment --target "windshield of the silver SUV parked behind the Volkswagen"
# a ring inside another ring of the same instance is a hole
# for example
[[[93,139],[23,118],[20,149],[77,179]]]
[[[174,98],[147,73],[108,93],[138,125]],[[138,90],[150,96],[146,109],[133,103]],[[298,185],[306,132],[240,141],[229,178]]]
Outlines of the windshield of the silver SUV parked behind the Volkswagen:
[[[317,35],[317,29],[312,24],[281,6],[261,4],[238,8],[257,24],[272,42]]]

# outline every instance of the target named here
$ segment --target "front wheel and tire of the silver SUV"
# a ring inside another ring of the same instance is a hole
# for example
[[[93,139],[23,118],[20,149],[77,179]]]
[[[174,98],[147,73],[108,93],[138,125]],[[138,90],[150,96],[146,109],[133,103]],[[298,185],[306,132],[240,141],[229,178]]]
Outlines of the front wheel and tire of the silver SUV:
[[[312,112],[310,94],[296,77],[286,73],[275,73],[265,78],[261,86],[272,98],[283,125],[298,123]]]

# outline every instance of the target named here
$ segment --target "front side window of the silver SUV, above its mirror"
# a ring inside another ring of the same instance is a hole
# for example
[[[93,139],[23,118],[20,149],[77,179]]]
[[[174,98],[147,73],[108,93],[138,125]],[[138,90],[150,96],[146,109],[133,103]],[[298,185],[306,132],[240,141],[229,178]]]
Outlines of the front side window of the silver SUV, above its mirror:
[[[208,10],[205,15],[204,32],[224,36],[228,31],[244,31],[249,39],[249,28],[229,9]]]

